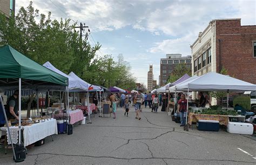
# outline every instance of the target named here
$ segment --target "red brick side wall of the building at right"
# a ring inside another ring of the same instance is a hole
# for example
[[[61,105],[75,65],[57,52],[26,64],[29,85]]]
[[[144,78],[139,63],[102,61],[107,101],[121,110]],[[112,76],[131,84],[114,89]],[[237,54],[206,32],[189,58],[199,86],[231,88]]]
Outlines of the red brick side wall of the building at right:
[[[240,19],[217,20],[217,72],[225,66],[230,76],[256,84],[253,40],[256,40],[256,25],[241,26]]]

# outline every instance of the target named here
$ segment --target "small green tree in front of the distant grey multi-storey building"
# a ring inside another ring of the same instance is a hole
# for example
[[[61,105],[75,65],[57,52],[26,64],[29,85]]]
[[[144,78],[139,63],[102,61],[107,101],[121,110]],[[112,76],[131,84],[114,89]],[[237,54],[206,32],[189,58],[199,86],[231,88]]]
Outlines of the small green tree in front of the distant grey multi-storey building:
[[[188,68],[185,64],[176,65],[176,67],[170,74],[169,79],[167,80],[167,83],[173,83],[174,81],[183,77],[183,75],[186,73],[191,76],[191,69]]]

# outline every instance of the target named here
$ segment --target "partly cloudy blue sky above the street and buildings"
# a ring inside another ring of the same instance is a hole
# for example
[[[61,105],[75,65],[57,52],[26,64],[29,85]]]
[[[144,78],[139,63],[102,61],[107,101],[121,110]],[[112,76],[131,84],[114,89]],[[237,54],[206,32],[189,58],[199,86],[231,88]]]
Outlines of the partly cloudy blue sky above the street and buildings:
[[[16,13],[29,0],[16,1]],[[256,1],[127,1],[35,0],[39,13],[71,18],[89,26],[91,45],[102,47],[97,56],[123,54],[137,83],[147,85],[149,65],[158,82],[160,58],[179,53],[191,56],[192,45],[212,19],[241,18],[241,25],[256,25]]]

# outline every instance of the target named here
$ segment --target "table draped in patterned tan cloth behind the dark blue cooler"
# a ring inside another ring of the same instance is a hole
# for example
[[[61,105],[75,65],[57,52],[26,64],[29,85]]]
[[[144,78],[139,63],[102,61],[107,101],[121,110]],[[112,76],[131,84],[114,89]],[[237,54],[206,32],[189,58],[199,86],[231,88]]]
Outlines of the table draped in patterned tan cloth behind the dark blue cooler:
[[[187,122],[192,125],[192,122],[197,122],[198,120],[217,120],[220,122],[220,125],[228,125],[228,116],[227,115],[212,115],[212,114],[195,114],[190,113],[188,115]]]

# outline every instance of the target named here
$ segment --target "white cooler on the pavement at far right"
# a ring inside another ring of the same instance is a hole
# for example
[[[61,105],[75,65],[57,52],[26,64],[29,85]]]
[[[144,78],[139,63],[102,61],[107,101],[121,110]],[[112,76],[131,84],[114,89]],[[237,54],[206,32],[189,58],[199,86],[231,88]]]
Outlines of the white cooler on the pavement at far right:
[[[246,122],[228,122],[227,132],[232,134],[253,134],[253,125]]]

